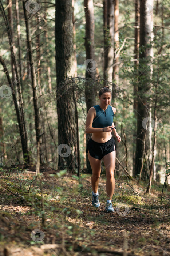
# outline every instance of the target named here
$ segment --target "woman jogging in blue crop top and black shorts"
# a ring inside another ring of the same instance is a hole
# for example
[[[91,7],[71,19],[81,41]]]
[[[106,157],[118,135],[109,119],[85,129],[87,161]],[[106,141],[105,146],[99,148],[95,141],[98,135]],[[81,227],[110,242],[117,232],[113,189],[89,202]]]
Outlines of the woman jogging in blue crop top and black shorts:
[[[100,104],[93,106],[87,113],[86,133],[92,133],[87,143],[86,153],[92,169],[91,185],[92,185],[92,205],[100,206],[98,184],[101,173],[101,160],[103,158],[106,169],[106,212],[114,212],[112,207],[112,196],[115,189],[115,160],[116,160],[116,144],[112,138],[112,131],[120,143],[121,138],[116,132],[113,123],[113,117],[116,109],[110,105],[111,90],[108,86],[104,86],[99,91]]]

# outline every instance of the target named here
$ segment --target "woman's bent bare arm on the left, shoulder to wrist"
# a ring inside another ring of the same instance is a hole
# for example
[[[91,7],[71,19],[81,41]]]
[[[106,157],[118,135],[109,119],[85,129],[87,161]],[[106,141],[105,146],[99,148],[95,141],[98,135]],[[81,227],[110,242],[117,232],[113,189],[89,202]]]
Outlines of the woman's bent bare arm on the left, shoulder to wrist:
[[[86,119],[86,129],[85,133],[98,133],[98,132],[103,132],[103,128],[95,128],[92,127],[93,119],[94,119],[94,114],[95,114],[95,108],[91,107],[88,110],[87,113],[87,119]]]

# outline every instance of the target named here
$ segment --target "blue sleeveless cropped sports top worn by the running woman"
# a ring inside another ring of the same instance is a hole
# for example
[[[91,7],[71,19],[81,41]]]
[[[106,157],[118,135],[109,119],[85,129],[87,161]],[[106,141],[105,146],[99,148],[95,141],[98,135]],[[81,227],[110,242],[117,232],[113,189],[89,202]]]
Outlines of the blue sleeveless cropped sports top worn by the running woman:
[[[112,106],[108,105],[105,111],[101,109],[99,105],[95,105],[94,108],[96,110],[96,116],[93,119],[92,127],[104,128],[111,126],[114,117]]]

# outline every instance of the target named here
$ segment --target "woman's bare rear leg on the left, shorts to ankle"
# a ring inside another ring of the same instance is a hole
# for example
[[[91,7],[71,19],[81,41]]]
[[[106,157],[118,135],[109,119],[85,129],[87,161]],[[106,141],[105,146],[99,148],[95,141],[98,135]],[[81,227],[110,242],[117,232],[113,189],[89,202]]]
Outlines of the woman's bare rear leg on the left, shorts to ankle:
[[[92,169],[92,176],[91,176],[91,185],[94,193],[98,192],[98,185],[99,185],[99,178],[101,173],[101,161],[99,159],[96,159],[94,157],[91,157],[88,150],[88,160],[91,165]]]

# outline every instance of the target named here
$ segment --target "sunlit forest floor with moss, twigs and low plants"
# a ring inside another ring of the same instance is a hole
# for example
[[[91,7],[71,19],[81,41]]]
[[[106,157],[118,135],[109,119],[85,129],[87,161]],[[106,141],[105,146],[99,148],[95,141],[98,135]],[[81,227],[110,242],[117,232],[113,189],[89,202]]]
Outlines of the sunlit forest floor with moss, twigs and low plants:
[[[146,195],[146,182],[115,177],[115,213],[106,213],[104,174],[98,209],[90,174],[46,169],[40,181],[30,169],[1,168],[0,176],[0,256],[170,255],[170,187],[161,206],[162,184]]]

